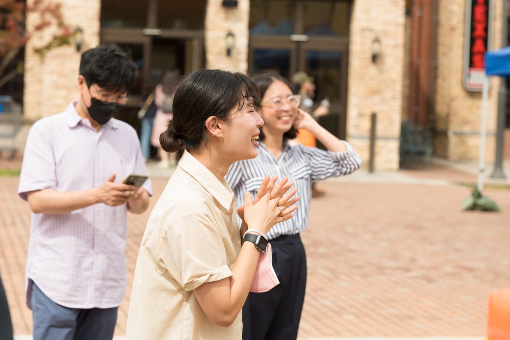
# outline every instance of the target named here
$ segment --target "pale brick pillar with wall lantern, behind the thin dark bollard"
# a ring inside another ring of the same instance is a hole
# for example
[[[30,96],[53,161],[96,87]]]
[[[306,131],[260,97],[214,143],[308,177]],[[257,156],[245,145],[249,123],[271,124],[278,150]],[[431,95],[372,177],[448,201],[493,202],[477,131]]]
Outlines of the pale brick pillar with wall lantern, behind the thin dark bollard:
[[[404,67],[404,0],[355,0],[349,38],[347,139],[368,164],[370,116],[377,113],[375,170],[397,170]],[[372,41],[381,54],[372,63]]]

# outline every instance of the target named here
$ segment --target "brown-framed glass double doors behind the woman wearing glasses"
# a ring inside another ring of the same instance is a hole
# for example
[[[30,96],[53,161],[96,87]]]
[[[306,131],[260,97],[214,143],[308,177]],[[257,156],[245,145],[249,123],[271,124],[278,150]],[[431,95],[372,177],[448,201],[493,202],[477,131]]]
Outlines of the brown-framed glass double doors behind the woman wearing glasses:
[[[248,72],[257,75],[272,71],[289,80],[297,71],[313,76],[315,106],[324,98],[331,104],[330,114],[321,117],[319,123],[342,139],[350,6],[345,0],[250,2]]]

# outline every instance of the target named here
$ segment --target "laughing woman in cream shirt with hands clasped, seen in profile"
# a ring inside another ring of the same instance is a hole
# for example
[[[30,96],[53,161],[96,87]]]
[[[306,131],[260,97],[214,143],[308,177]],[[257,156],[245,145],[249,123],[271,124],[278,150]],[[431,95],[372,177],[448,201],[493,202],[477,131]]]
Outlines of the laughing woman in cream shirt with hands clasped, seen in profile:
[[[200,70],[180,83],[161,146],[185,148],[147,222],[137,258],[126,339],[240,340],[241,308],[261,252],[241,243],[232,163],[257,156],[259,89],[246,75]],[[241,232],[259,236],[295,210],[292,183],[265,176]],[[272,190],[270,190],[272,188]],[[244,201],[244,200],[243,200]],[[250,229],[250,230],[251,230]]]

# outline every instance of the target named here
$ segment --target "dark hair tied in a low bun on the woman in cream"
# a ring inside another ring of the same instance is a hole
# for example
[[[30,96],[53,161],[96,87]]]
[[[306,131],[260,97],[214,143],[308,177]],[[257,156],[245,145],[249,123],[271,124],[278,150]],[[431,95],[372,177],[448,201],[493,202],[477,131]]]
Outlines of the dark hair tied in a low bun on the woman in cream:
[[[247,75],[222,70],[199,70],[183,77],[173,97],[173,118],[160,135],[163,150],[190,151],[206,141],[206,120],[215,116],[228,121],[236,106],[241,110],[245,98],[260,101],[257,85]]]

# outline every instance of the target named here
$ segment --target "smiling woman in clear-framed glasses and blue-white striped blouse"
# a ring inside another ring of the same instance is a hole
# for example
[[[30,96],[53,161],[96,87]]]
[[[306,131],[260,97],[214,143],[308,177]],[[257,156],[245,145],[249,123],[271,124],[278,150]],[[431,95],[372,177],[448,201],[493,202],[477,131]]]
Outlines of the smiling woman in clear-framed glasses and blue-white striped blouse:
[[[307,112],[298,109],[288,80],[279,74],[254,77],[262,101],[257,112],[264,119],[259,136],[259,155],[234,163],[225,179],[234,190],[236,204],[249,191],[257,194],[265,173],[286,176],[294,182],[300,200],[296,216],[275,225],[267,236],[272,263],[280,284],[266,293],[249,293],[243,306],[243,340],[295,339],[304,302],[307,262],[299,232],[308,227],[311,184],[331,176],[349,174],[362,161],[352,146],[330,134]],[[329,151],[301,144],[291,146],[297,130],[306,128]]]

